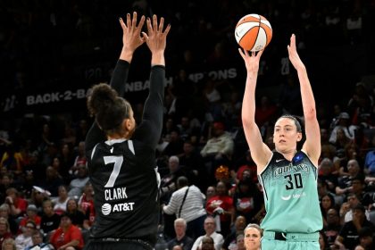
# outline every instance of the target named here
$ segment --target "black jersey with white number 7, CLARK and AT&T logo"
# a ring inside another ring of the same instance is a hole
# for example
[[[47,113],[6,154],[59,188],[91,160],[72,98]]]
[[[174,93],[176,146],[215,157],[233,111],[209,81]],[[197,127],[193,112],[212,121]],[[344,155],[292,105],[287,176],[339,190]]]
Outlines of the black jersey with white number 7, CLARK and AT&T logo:
[[[143,238],[153,242],[158,224],[158,179],[154,149],[137,140],[97,144],[87,159],[95,191],[91,237]]]

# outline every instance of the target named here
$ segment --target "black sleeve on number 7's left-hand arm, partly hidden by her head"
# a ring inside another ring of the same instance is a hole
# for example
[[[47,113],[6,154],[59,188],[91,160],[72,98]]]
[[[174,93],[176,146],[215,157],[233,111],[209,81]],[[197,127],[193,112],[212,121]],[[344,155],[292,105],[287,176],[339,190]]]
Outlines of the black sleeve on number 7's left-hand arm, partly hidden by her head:
[[[116,66],[114,67],[110,86],[119,93],[119,96],[123,96],[125,93],[125,84],[128,79],[130,63],[119,59]],[[105,140],[105,135],[102,129],[100,129],[96,121],[87,132],[85,141],[86,152],[92,150],[96,144]]]

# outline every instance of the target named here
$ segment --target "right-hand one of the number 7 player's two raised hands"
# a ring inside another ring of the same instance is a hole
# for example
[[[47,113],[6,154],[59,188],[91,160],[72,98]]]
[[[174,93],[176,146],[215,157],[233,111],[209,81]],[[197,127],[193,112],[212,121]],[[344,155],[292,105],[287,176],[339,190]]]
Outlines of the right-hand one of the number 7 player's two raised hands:
[[[160,19],[158,24],[157,16],[153,16],[153,21],[147,18],[147,34],[142,32],[143,37],[145,37],[146,44],[151,50],[152,54],[163,54],[165,50],[165,46],[167,44],[167,35],[170,32],[171,25],[168,24],[164,31],[164,18]]]

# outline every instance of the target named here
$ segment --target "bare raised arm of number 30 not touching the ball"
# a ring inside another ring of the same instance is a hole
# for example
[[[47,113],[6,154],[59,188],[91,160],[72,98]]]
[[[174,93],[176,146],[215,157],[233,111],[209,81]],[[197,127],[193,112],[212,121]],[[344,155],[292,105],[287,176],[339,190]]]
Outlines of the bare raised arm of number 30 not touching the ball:
[[[304,130],[306,134],[303,150],[309,155],[312,163],[318,166],[318,159],[321,155],[321,131],[316,118],[315,99],[312,94],[312,87],[304,63],[302,63],[296,52],[296,36],[294,34],[290,37],[290,45],[287,46],[287,52],[290,62],[297,71],[301,89],[302,105],[304,108]]]

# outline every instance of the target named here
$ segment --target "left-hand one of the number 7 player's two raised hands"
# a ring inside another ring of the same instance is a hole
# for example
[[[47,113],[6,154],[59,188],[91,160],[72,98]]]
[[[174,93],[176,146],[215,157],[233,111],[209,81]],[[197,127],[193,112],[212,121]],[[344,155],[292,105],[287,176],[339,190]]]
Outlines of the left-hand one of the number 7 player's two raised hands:
[[[133,18],[130,18],[128,13],[126,16],[126,23],[120,18],[122,28],[122,50],[133,53],[138,46],[143,45],[145,37],[141,37],[141,29],[145,23],[145,16],[142,15],[137,24],[137,12],[133,12]]]

